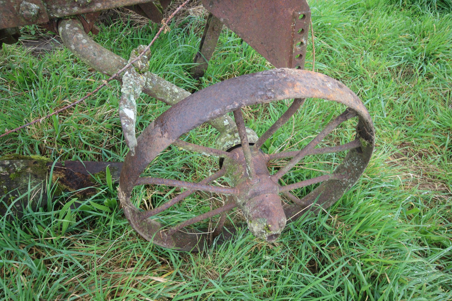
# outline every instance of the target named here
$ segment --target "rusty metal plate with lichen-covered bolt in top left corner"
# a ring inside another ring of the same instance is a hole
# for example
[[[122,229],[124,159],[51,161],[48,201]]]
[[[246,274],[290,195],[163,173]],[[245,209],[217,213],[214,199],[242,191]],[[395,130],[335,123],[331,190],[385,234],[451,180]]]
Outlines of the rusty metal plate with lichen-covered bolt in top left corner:
[[[0,0],[0,29],[48,21],[41,0]]]

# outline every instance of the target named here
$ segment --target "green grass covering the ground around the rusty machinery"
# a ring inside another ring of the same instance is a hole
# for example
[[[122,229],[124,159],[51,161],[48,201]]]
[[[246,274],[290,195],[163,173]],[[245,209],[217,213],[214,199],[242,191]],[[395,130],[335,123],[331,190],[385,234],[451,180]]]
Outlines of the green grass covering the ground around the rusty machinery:
[[[268,245],[247,232],[202,254],[174,252],[143,241],[122,209],[99,210],[116,197],[103,180],[87,206],[50,196],[47,208],[21,220],[0,219],[0,298],[5,300],[452,300],[452,3],[450,0],[311,1],[315,70],[351,88],[363,100],[376,129],[376,148],[364,175],[328,212],[287,226]],[[188,69],[202,19],[188,18],[152,48],[152,72],[196,91],[271,66],[230,30],[223,30],[200,81]],[[158,25],[122,23],[94,37],[128,58],[148,44]],[[35,27],[23,28],[24,37]],[[311,38],[309,39],[311,41]],[[306,69],[312,68],[308,44]],[[92,91],[104,76],[60,48],[39,58],[20,45],[0,51],[0,132],[47,115]],[[127,153],[117,114],[120,86],[111,82],[95,97],[57,118],[0,140],[0,153],[39,154],[52,160],[122,161]],[[286,102],[288,103],[288,102]],[[284,102],[248,108],[245,121],[258,134],[287,108]],[[142,95],[138,125],[169,107]],[[306,101],[299,114],[264,149],[297,148],[343,108]],[[351,125],[350,125],[351,126]],[[349,141],[350,126],[325,139]],[[213,145],[202,128],[188,140]],[[306,139],[307,138],[307,139]],[[330,171],[341,155],[310,157],[285,181]],[[332,162],[332,163],[331,163]],[[199,181],[215,160],[170,148],[147,172]],[[48,190],[55,188],[48,183]],[[304,194],[311,190],[298,191]],[[177,192],[177,191],[176,191]],[[142,206],[175,192],[164,186],[137,189]],[[206,193],[167,213],[169,223],[207,210]],[[197,205],[197,206],[195,206]],[[165,215],[164,215],[165,216]],[[238,219],[234,213],[230,219]]]

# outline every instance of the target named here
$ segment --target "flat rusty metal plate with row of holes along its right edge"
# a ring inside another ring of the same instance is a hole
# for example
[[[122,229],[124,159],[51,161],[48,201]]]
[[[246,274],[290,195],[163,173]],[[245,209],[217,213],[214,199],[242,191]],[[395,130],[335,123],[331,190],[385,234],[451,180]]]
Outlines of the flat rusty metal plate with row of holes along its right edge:
[[[276,68],[304,66],[311,10],[305,0],[202,0]]]

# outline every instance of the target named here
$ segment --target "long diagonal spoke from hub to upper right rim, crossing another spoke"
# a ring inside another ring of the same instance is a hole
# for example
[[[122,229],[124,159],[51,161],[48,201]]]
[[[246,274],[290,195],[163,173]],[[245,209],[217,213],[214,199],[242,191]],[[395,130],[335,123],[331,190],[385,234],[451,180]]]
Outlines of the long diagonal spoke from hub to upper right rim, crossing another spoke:
[[[276,181],[280,179],[282,176],[284,176],[288,171],[292,169],[300,160],[305,157],[308,153],[310,153],[317,144],[320,143],[328,134],[330,134],[338,125],[343,123],[344,121],[353,118],[357,115],[355,111],[351,111],[349,109],[345,110],[344,113],[336,117],[333,121],[331,121],[328,125],[325,126],[325,128],[315,136],[314,139],[311,140],[311,142],[306,145],[305,148],[301,149],[301,151],[298,152],[298,154],[292,158],[284,167],[282,167],[277,173],[275,173],[272,176],[272,180]]]

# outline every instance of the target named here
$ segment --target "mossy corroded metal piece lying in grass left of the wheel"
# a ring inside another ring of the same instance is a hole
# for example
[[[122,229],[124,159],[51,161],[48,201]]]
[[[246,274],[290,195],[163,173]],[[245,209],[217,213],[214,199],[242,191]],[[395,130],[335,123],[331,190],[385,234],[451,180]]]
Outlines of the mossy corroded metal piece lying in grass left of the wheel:
[[[107,166],[113,181],[119,179],[120,162],[61,163],[40,156],[6,155],[0,160],[0,216],[20,218],[27,210],[36,212],[47,204],[46,183],[49,181],[57,184],[57,189],[52,190],[53,196],[60,192],[73,192],[81,198],[94,194],[93,175],[104,178]],[[49,179],[51,174],[52,179]]]

